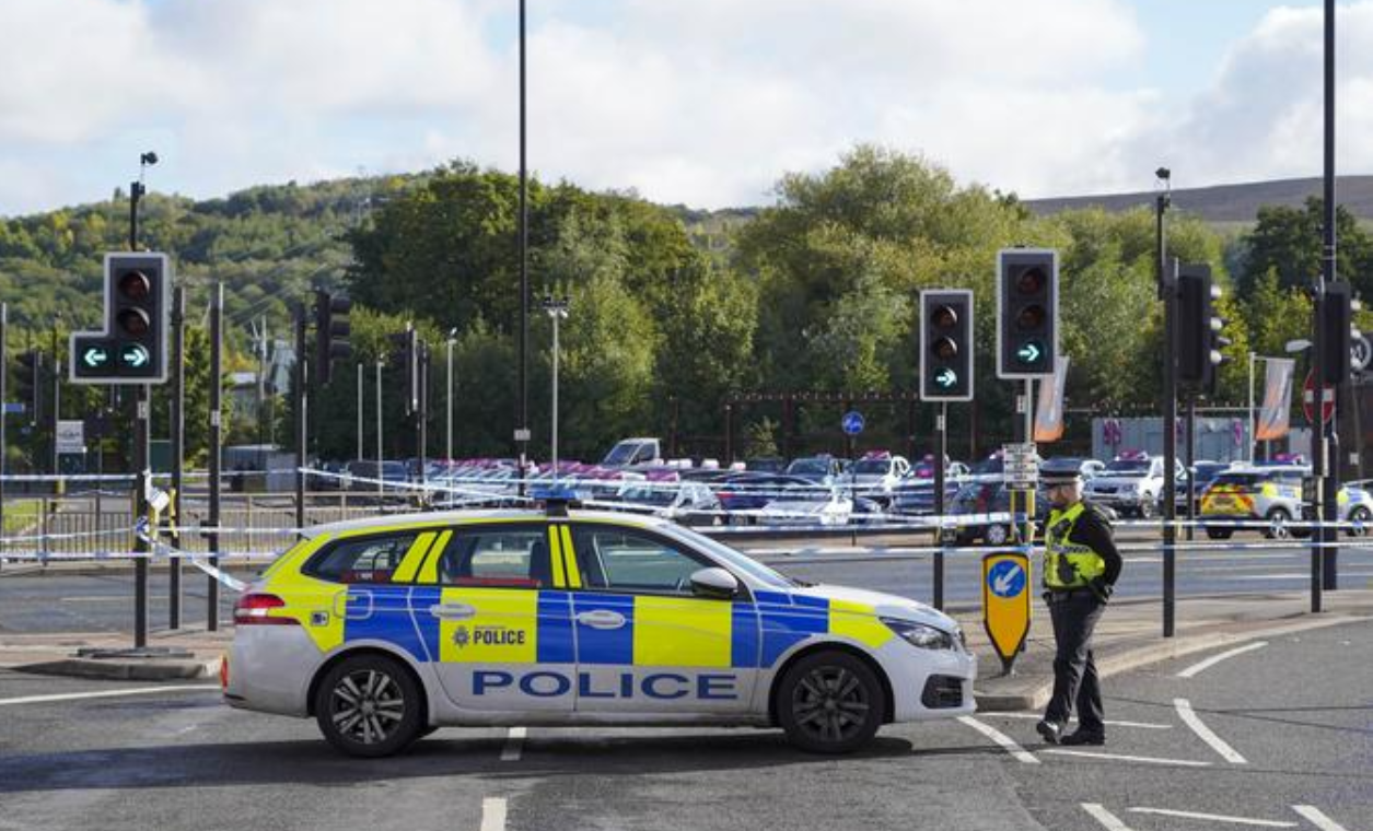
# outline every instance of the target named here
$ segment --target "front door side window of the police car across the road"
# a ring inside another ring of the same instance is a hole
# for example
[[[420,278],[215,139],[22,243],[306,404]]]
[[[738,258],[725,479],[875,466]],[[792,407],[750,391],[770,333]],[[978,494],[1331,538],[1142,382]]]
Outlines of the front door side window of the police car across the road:
[[[689,597],[691,576],[710,566],[665,540],[632,529],[577,525],[574,536],[588,588]]]

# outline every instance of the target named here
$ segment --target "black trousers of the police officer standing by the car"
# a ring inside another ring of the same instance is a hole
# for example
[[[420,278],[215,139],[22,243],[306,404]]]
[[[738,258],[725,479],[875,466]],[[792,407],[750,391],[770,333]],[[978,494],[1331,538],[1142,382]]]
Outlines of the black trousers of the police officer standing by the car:
[[[1053,618],[1053,697],[1045,710],[1046,721],[1064,724],[1078,709],[1078,730],[1105,735],[1101,710],[1101,682],[1092,660],[1092,632],[1107,607],[1090,591],[1049,594],[1049,617]]]

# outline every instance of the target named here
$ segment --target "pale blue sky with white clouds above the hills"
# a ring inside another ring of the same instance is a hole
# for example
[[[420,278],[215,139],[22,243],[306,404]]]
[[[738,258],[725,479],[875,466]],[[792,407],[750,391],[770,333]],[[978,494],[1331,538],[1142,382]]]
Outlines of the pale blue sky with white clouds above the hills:
[[[1322,3],[527,0],[529,167],[770,204],[859,143],[1023,197],[1311,177]],[[1373,0],[1337,167],[1373,171]],[[518,0],[0,0],[0,217],[151,191],[516,170]]]

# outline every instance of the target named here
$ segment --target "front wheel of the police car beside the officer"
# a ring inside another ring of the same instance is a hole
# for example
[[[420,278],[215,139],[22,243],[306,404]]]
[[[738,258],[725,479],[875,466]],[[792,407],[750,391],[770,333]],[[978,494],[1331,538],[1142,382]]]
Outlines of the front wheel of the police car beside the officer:
[[[859,658],[822,651],[792,664],[777,687],[777,720],[806,753],[851,753],[872,740],[887,694]]]

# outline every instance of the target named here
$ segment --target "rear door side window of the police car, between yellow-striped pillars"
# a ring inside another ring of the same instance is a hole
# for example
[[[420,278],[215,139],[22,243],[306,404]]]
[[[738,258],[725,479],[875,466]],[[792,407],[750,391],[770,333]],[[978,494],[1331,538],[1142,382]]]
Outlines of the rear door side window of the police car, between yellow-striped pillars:
[[[438,554],[441,586],[548,588],[548,531],[544,527],[456,529]]]

